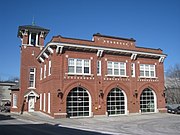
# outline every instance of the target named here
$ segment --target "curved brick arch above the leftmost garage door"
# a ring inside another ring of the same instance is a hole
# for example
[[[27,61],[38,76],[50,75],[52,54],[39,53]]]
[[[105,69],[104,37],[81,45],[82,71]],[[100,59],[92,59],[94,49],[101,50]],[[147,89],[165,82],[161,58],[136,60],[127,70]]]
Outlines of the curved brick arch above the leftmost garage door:
[[[81,88],[86,89],[89,92],[90,96],[91,96],[92,102],[94,101],[94,94],[92,93],[91,87],[88,84],[86,84],[86,83],[84,83],[82,81],[73,81],[67,87],[65,87],[63,89],[64,90],[64,99],[65,99],[65,101],[66,101],[66,98],[67,98],[67,95],[69,94],[69,92],[75,87],[81,87]]]

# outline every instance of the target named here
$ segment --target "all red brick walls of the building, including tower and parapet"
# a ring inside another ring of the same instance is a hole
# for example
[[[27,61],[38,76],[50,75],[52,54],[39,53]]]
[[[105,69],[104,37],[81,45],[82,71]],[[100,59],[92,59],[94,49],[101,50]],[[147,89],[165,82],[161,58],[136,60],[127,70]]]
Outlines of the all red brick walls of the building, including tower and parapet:
[[[138,50],[143,52],[152,52],[152,53],[162,53],[161,50],[154,49],[146,49],[146,48],[137,48],[135,47],[135,43],[132,41],[121,41],[117,39],[111,39],[112,45],[104,42],[104,40],[110,40],[108,38],[97,39],[98,37],[94,37],[94,41],[85,41],[85,40],[75,40],[68,39],[63,37],[53,37],[52,41],[54,42],[66,42],[66,43],[76,43],[76,44],[84,44],[84,45],[93,45],[93,46],[104,46],[104,47],[114,47],[120,49],[128,49],[128,50]],[[24,37],[23,43],[25,44],[28,41],[27,37]],[[40,39],[40,44],[44,44],[43,38]],[[122,42],[122,45],[114,45],[114,42]],[[124,43],[124,47],[123,47]],[[126,44],[127,43],[127,44]],[[150,58],[139,58],[136,60],[131,60],[130,56],[120,56],[113,54],[103,53],[101,58],[97,57],[96,52],[88,52],[88,51],[77,51],[77,50],[63,50],[63,54],[54,53],[49,56],[48,59],[45,59],[44,63],[39,63],[36,57],[41,52],[39,47],[33,46],[22,46],[21,48],[21,82],[20,82],[20,100],[18,101],[19,111],[24,102],[24,93],[28,89],[29,82],[29,68],[36,68],[36,89],[35,91],[38,94],[42,94],[42,112],[44,106],[44,93],[46,93],[46,111],[48,109],[48,92],[51,93],[51,112],[49,115],[56,117],[54,114],[58,113],[65,114],[66,113],[66,97],[68,93],[74,87],[84,87],[88,90],[92,98],[92,112],[94,115],[105,115],[107,111],[107,95],[113,88],[122,89],[127,96],[127,110],[129,113],[138,113],[140,110],[140,95],[145,88],[150,87],[154,90],[157,96],[157,108],[162,109],[165,106],[165,100],[162,96],[164,90],[164,69],[163,64],[159,63],[158,59],[150,59]],[[67,75],[68,72],[68,58],[80,58],[80,59],[90,59],[91,60],[91,74],[90,76],[73,76]],[[52,73],[48,76],[48,61],[52,61]],[[97,60],[101,60],[102,72],[101,76],[97,76]],[[115,62],[126,62],[126,75],[128,77],[120,78],[120,77],[107,77],[107,61],[115,61]],[[131,63],[135,63],[136,65],[136,77],[131,77]],[[40,80],[40,68],[43,68],[44,64],[46,64],[46,78]],[[139,78],[139,64],[153,64],[156,65],[156,79],[140,79]],[[60,99],[58,94],[58,89],[63,92],[63,98]],[[99,97],[99,90],[103,90],[104,96],[103,98]],[[135,90],[138,92],[138,97],[134,96]],[[40,99],[37,99],[35,110],[39,110]],[[24,111],[28,110],[27,103],[25,103]],[[48,113],[47,113],[48,114]],[[64,116],[60,116],[64,117]]]

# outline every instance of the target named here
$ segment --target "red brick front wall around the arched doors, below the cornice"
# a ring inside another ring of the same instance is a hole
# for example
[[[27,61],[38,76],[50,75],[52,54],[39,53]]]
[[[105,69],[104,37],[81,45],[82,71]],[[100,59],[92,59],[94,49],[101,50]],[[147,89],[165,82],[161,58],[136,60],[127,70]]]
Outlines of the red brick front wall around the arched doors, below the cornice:
[[[55,50],[54,50],[55,52]],[[73,76],[67,75],[68,58],[91,59],[92,76]],[[94,115],[106,114],[106,97],[111,89],[115,87],[121,88],[127,96],[127,109],[129,113],[138,113],[140,110],[140,95],[145,88],[150,87],[157,96],[157,108],[164,108],[165,100],[162,96],[164,90],[164,70],[163,64],[158,59],[137,58],[132,61],[129,56],[117,56],[104,54],[102,58],[97,58],[96,53],[78,52],[64,50],[63,54],[53,53],[50,58],[52,61],[52,75],[40,81],[41,92],[51,92],[51,114],[66,113],[66,97],[70,90],[74,87],[86,88],[92,98],[92,112]],[[96,74],[96,62],[101,60],[102,72],[101,76]],[[126,62],[127,78],[106,77],[107,61]],[[48,60],[45,60],[48,73]],[[131,63],[136,65],[136,77],[131,77]],[[139,79],[140,64],[155,64],[157,79]],[[42,64],[44,65],[44,64]],[[85,79],[84,79],[85,77]],[[87,79],[87,77],[89,79]],[[91,78],[91,79],[90,79]],[[111,80],[110,80],[111,79]],[[118,80],[119,79],[119,80]],[[60,89],[64,93],[63,99],[57,97],[57,90]],[[104,92],[103,99],[99,97],[99,90]],[[135,90],[138,91],[138,97],[134,95]],[[46,100],[47,101],[47,100]],[[47,105],[47,103],[46,103]],[[100,107],[99,107],[100,106]],[[97,110],[95,108],[98,108]],[[47,106],[46,106],[47,108]]]

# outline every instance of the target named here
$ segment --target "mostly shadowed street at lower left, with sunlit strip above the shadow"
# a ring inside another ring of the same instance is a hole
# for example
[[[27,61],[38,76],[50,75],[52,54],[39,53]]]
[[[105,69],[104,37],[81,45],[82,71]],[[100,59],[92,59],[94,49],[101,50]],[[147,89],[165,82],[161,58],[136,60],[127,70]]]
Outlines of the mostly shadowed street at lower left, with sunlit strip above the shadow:
[[[102,135],[101,133],[59,127],[46,123],[18,120],[0,114],[1,135]]]

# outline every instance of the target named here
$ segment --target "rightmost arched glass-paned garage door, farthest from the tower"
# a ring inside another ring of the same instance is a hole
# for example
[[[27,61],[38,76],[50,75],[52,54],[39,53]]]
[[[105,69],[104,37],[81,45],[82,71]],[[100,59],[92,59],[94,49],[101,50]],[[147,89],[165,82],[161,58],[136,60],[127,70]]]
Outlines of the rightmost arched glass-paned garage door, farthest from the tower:
[[[140,109],[142,113],[155,112],[155,97],[151,89],[144,89],[140,97]]]

